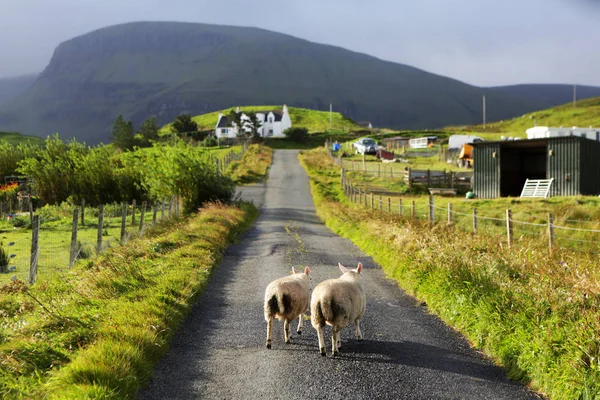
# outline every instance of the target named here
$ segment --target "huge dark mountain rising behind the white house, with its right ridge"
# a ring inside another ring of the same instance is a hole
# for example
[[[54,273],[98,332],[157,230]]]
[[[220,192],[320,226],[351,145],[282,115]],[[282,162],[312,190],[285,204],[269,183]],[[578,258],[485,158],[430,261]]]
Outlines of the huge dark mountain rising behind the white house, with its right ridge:
[[[600,88],[578,88],[582,97]],[[136,22],[61,43],[35,83],[0,106],[0,129],[88,144],[110,140],[122,114],[199,115],[237,105],[287,104],[375,127],[432,129],[501,120],[568,101],[567,85],[481,88],[343,48],[257,28]]]

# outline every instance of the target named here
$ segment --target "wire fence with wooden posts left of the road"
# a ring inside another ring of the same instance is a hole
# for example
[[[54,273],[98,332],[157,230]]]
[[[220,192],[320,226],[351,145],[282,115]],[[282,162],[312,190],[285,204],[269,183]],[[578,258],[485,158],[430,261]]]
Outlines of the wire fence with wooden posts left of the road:
[[[210,156],[217,172],[240,160],[241,153],[226,152],[220,158]],[[31,197],[20,202],[0,203],[0,283],[12,277],[31,284],[40,275],[70,268],[82,258],[103,252],[114,243],[125,244],[132,236],[171,216],[181,214],[181,200],[172,197],[154,204],[146,202],[107,204],[98,208],[79,206],[42,207],[34,211]],[[31,230],[29,229],[31,227]],[[8,274],[7,274],[8,273]]]

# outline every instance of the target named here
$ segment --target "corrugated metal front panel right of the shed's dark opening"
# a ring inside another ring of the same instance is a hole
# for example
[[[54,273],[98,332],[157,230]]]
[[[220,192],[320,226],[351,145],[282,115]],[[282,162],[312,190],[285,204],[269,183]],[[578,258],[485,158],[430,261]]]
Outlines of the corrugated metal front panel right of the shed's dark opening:
[[[584,139],[564,137],[548,141],[548,152],[552,152],[552,155],[548,154],[548,179],[554,178],[550,188],[551,196],[580,194],[581,140]]]

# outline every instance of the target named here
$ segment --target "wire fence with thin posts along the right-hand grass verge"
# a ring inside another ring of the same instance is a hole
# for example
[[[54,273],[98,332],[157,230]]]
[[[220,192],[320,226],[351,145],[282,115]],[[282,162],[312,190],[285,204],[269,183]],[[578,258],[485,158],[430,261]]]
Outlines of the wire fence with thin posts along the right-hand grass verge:
[[[453,207],[452,203],[448,203],[447,207],[436,206],[432,195],[423,207],[417,206],[415,200],[404,201],[403,198],[376,196],[373,192],[363,190],[350,182],[345,170],[342,170],[341,182],[348,200],[372,211],[378,210],[395,213],[405,218],[426,220],[431,226],[445,223],[473,234],[504,236],[509,247],[516,240],[530,238],[545,242],[550,251],[563,247],[600,254],[600,221],[564,220],[564,225],[558,225],[552,213],[543,216],[545,219],[543,222],[519,221],[513,218],[510,209],[505,210],[502,218],[491,217],[481,215],[476,207],[460,212]],[[584,224],[588,224],[589,228],[582,228]]]

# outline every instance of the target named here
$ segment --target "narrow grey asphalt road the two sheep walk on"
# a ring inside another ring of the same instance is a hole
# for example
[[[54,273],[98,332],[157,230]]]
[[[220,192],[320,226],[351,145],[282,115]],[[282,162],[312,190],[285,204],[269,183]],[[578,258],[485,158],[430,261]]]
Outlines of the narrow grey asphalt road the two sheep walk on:
[[[231,246],[141,399],[531,399],[522,385],[472,350],[354,244],[319,220],[297,151],[276,151],[266,184],[244,188],[261,215]],[[311,268],[311,288],[338,277],[337,263],[365,266],[364,340],[342,332],[339,357],[318,351],[305,321],[292,344],[277,321],[265,347],[264,290],[292,266]]]

